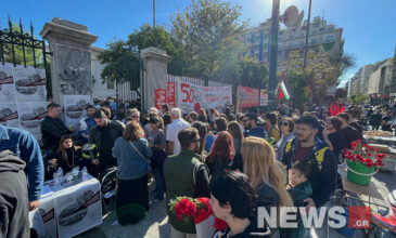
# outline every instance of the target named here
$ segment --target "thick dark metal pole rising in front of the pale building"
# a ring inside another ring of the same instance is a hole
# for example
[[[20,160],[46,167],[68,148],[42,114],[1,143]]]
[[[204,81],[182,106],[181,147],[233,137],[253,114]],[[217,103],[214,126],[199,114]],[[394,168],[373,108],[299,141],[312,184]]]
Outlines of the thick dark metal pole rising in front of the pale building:
[[[274,94],[277,91],[277,63],[278,63],[278,29],[279,29],[280,0],[272,0],[271,39],[269,51],[269,85],[268,104],[274,108]]]

